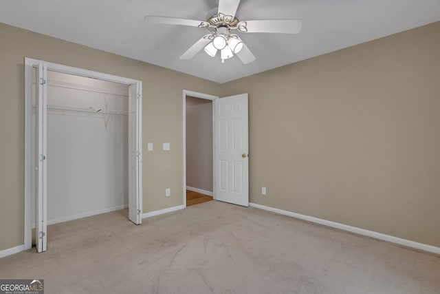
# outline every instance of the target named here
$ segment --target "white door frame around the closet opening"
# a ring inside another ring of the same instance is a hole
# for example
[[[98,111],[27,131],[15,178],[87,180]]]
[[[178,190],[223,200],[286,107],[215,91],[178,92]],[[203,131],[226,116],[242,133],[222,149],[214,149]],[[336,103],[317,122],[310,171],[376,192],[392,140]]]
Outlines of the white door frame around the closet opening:
[[[24,205],[24,249],[32,248],[32,177],[34,172],[32,167],[32,68],[39,63],[44,63],[47,66],[47,70],[54,72],[63,72],[65,74],[73,74],[76,76],[85,76],[88,78],[97,78],[103,81],[111,81],[115,83],[122,83],[125,85],[133,85],[138,83],[142,89],[142,81],[134,80],[132,78],[124,78],[122,76],[114,76],[112,74],[104,74],[102,72],[94,72],[91,70],[85,70],[79,67],[71,67],[67,65],[61,65],[58,63],[50,63],[37,59],[30,59],[25,57],[25,205]],[[142,96],[140,97],[142,100]],[[139,109],[140,116],[142,117],[142,109]],[[140,130],[139,136],[142,136]],[[140,137],[141,139],[142,137]],[[142,140],[140,140],[140,152],[142,151]],[[142,162],[142,160],[141,160]],[[140,166],[140,172],[142,173],[142,165]],[[142,175],[142,174],[140,174]],[[139,181],[140,191],[142,191],[142,180]],[[142,192],[141,192],[142,199]],[[140,207],[142,211],[142,206]],[[142,215],[142,213],[141,213]]]

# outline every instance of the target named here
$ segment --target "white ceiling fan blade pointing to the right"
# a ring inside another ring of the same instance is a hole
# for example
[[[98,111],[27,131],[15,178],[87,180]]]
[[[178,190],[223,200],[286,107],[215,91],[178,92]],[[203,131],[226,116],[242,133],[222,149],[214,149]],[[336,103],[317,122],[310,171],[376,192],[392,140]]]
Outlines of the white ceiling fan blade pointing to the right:
[[[257,21],[243,21],[245,29],[241,32],[272,32],[282,34],[298,34],[303,25],[300,19],[265,19]]]

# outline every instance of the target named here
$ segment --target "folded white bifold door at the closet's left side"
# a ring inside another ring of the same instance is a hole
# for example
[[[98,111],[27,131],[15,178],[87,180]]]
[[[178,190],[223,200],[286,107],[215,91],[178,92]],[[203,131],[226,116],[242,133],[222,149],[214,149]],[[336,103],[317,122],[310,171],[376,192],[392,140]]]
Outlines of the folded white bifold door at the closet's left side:
[[[47,249],[47,68],[36,67],[36,129],[35,129],[35,244],[38,252]]]

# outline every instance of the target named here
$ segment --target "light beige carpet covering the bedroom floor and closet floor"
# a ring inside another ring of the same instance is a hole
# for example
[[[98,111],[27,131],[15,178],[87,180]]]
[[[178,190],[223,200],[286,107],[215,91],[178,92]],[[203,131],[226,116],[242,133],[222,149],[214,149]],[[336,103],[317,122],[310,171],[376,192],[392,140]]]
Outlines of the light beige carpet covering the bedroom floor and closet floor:
[[[440,293],[440,256],[211,201],[148,218],[54,224],[48,251],[0,259],[45,293]]]

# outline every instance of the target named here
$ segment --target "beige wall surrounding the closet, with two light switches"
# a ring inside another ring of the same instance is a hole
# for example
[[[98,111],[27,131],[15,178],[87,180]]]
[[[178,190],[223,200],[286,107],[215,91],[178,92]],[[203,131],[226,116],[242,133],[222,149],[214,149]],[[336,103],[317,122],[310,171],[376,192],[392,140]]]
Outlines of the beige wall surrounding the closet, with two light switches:
[[[0,40],[0,250],[23,244],[25,57],[142,81],[143,209],[182,204],[182,90],[215,95],[219,84],[1,23]],[[161,151],[164,142],[170,151]]]

